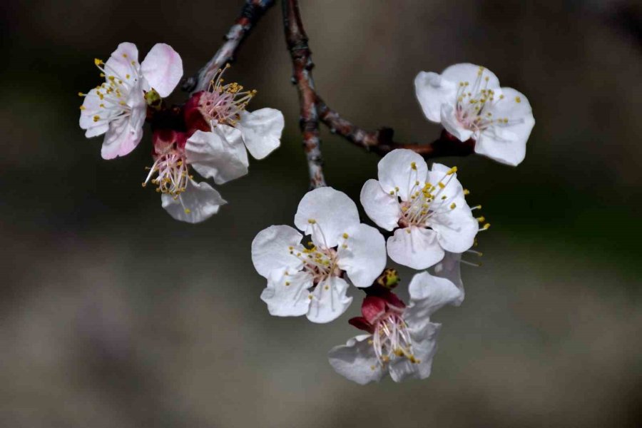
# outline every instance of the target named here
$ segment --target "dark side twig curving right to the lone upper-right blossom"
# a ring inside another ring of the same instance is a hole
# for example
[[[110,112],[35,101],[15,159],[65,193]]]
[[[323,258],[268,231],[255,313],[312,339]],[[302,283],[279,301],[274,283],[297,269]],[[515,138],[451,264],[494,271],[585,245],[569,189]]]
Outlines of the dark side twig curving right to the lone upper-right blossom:
[[[316,104],[320,120],[330,128],[332,133],[342,136],[355,146],[377,153],[379,156],[384,156],[395,148],[407,148],[426,159],[441,156],[468,156],[474,152],[475,141],[472,138],[462,142],[445,129],[442,131],[442,135],[432,143],[397,143],[392,140],[394,134],[392,128],[367,131],[342,118],[339,113],[328,107],[319,96],[317,96]]]

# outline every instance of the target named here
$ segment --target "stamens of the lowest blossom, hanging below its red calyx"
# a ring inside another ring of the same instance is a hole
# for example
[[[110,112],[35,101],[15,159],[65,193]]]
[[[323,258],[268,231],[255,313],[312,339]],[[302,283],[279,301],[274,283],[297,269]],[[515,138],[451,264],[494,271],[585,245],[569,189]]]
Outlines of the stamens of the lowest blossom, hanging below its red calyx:
[[[370,342],[381,365],[386,365],[395,358],[407,358],[416,364],[421,362],[412,354],[412,340],[408,325],[402,315],[394,310],[390,310],[377,321]]]

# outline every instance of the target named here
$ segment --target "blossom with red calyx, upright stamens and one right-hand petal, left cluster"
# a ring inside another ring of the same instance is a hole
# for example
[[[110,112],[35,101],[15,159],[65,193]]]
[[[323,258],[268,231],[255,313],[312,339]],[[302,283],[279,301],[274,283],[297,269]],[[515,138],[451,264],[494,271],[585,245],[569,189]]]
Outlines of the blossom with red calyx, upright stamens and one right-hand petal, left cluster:
[[[225,66],[210,83],[208,91],[196,93],[186,106],[188,128],[215,132],[216,128],[232,127],[240,131],[240,147],[248,149],[256,159],[263,159],[280,146],[285,121],[275,108],[245,110],[256,91],[243,91],[238,83],[223,84]],[[200,114],[190,111],[197,110]]]

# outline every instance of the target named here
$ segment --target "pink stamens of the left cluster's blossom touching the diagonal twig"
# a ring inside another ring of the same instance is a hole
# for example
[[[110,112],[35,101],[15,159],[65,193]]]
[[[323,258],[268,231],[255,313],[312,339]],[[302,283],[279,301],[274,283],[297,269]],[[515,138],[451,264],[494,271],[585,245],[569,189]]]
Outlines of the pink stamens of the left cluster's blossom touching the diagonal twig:
[[[240,113],[245,110],[256,91],[243,91],[238,83],[223,85],[223,73],[230,68],[219,69],[215,78],[210,82],[209,91],[203,92],[198,104],[205,120],[214,126],[223,123],[235,126],[240,119]]]

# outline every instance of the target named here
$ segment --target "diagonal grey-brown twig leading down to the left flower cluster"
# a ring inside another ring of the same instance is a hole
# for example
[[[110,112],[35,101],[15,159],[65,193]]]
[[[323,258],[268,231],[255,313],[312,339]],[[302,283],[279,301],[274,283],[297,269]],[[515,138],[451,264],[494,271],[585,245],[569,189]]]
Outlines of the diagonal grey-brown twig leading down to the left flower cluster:
[[[186,78],[183,81],[181,85],[183,91],[197,92],[207,89],[218,69],[223,68],[225,63],[234,61],[236,50],[240,44],[250,34],[253,26],[257,24],[261,16],[265,14],[265,11],[274,4],[275,0],[245,0],[240,16],[236,19],[228,34],[223,37],[223,46],[220,46],[212,59],[195,76]]]

